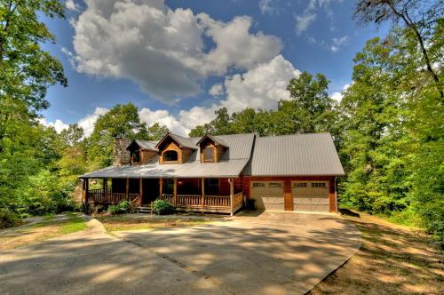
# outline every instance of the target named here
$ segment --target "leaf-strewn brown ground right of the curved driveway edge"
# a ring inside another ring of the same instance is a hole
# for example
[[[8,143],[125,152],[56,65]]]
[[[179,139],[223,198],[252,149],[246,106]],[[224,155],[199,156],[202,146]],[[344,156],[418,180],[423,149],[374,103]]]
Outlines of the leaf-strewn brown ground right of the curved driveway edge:
[[[443,294],[443,253],[423,231],[359,212],[361,249],[311,294]],[[411,223],[408,223],[411,226]]]

